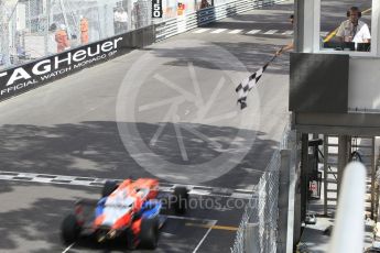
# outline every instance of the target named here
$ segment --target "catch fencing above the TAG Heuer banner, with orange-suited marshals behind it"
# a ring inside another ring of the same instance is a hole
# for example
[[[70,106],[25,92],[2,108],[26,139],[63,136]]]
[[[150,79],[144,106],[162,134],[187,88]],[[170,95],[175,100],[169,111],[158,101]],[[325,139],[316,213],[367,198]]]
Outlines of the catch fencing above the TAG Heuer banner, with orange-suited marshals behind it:
[[[0,1],[0,68],[151,25],[151,0]]]

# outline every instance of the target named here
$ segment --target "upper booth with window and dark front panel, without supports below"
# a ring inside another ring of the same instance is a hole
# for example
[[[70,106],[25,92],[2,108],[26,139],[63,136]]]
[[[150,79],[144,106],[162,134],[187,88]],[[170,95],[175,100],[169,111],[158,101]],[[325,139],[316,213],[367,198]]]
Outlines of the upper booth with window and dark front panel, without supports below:
[[[297,1],[296,51],[291,57],[290,82],[290,110],[295,114],[295,128],[300,124],[306,130],[304,125],[313,128],[315,124],[318,129],[337,125],[358,130],[361,125],[362,130],[376,133],[371,128],[380,127],[374,119],[380,112],[380,2],[347,1],[346,6],[337,12],[328,12],[328,1]],[[347,10],[352,6],[362,9],[359,20],[370,28],[369,51],[360,51],[361,43],[354,42],[352,48],[325,46],[339,44],[334,34],[348,19]],[[329,41],[321,37],[326,23],[335,23],[330,26]]]

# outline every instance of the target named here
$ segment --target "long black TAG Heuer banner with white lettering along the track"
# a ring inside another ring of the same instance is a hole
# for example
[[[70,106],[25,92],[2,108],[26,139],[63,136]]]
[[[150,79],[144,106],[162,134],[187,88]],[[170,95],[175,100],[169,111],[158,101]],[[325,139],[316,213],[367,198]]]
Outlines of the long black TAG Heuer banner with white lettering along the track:
[[[146,26],[0,70],[0,101],[112,59],[132,48],[150,45],[154,42],[153,31],[152,25]]]

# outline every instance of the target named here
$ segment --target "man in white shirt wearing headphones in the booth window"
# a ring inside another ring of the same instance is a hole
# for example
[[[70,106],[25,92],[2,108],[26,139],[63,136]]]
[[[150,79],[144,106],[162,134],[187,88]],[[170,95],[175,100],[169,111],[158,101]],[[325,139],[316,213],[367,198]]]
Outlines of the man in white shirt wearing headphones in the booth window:
[[[359,8],[351,7],[347,11],[348,20],[341,22],[336,36],[340,42],[370,43],[371,34],[368,25],[360,21],[361,12]]]

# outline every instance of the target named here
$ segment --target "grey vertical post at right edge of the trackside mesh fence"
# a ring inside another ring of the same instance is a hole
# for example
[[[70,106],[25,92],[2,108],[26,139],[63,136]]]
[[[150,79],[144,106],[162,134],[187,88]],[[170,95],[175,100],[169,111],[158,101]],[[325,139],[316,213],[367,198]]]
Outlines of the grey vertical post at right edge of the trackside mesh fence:
[[[282,150],[279,177],[278,253],[286,252],[291,151]]]

